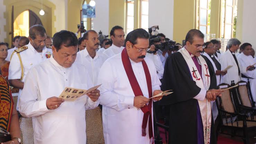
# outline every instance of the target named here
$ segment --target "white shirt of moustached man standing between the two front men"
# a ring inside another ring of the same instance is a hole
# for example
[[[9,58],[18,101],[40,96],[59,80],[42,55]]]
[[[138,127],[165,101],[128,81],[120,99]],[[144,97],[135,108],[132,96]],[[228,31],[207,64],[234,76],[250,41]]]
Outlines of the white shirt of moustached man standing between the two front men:
[[[96,86],[99,69],[105,60],[106,56],[104,56],[103,54],[99,54],[98,51],[96,51],[96,55],[92,59],[87,49],[85,48],[84,50],[77,53],[76,63],[79,63],[86,67],[92,83],[94,84],[94,86]]]

